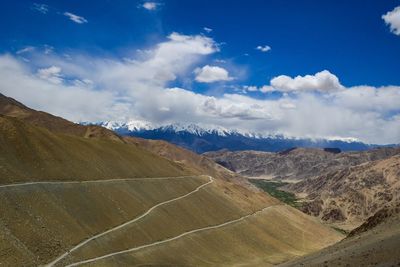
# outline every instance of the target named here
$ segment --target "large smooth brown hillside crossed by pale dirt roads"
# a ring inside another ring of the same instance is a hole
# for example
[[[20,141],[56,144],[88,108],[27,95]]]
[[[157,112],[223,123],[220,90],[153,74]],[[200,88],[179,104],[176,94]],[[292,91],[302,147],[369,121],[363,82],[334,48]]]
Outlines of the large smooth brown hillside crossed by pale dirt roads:
[[[0,265],[269,266],[342,238],[182,151],[70,126],[0,117]]]

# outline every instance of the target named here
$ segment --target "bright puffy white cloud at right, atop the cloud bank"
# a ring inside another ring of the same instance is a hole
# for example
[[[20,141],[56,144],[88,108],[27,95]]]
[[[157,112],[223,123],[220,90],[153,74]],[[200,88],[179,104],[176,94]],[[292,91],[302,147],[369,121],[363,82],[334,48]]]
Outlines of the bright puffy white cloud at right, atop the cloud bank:
[[[315,75],[296,76],[294,78],[280,75],[271,80],[271,86],[275,90],[283,92],[332,92],[344,88],[339,79],[327,70],[317,72]]]

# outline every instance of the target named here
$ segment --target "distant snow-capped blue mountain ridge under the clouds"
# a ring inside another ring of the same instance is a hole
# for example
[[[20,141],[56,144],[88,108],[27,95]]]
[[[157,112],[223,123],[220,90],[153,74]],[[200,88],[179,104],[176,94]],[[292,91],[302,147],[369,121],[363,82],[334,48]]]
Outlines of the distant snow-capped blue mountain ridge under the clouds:
[[[82,123],[91,124],[91,123]],[[293,147],[339,148],[342,151],[362,151],[378,147],[354,138],[296,138],[280,134],[262,134],[230,130],[219,126],[172,123],[155,125],[132,120],[128,122],[99,122],[96,125],[113,130],[120,135],[145,139],[164,140],[196,153],[228,149],[277,152]]]

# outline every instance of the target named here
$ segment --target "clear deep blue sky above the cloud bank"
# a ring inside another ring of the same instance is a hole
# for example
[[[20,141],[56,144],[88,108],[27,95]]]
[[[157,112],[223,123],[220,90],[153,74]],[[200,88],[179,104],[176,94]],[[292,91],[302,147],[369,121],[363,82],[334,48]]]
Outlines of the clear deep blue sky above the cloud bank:
[[[165,1],[154,12],[138,1],[2,1],[1,51],[48,44],[60,50],[123,55],[171,32],[198,34],[203,27],[223,42],[217,57],[248,67],[245,80],[263,84],[328,69],[346,86],[400,84],[400,38],[381,19],[399,1]],[[69,11],[89,23],[74,25]],[[254,48],[269,45],[269,53]],[[245,56],[248,54],[248,56]]]

